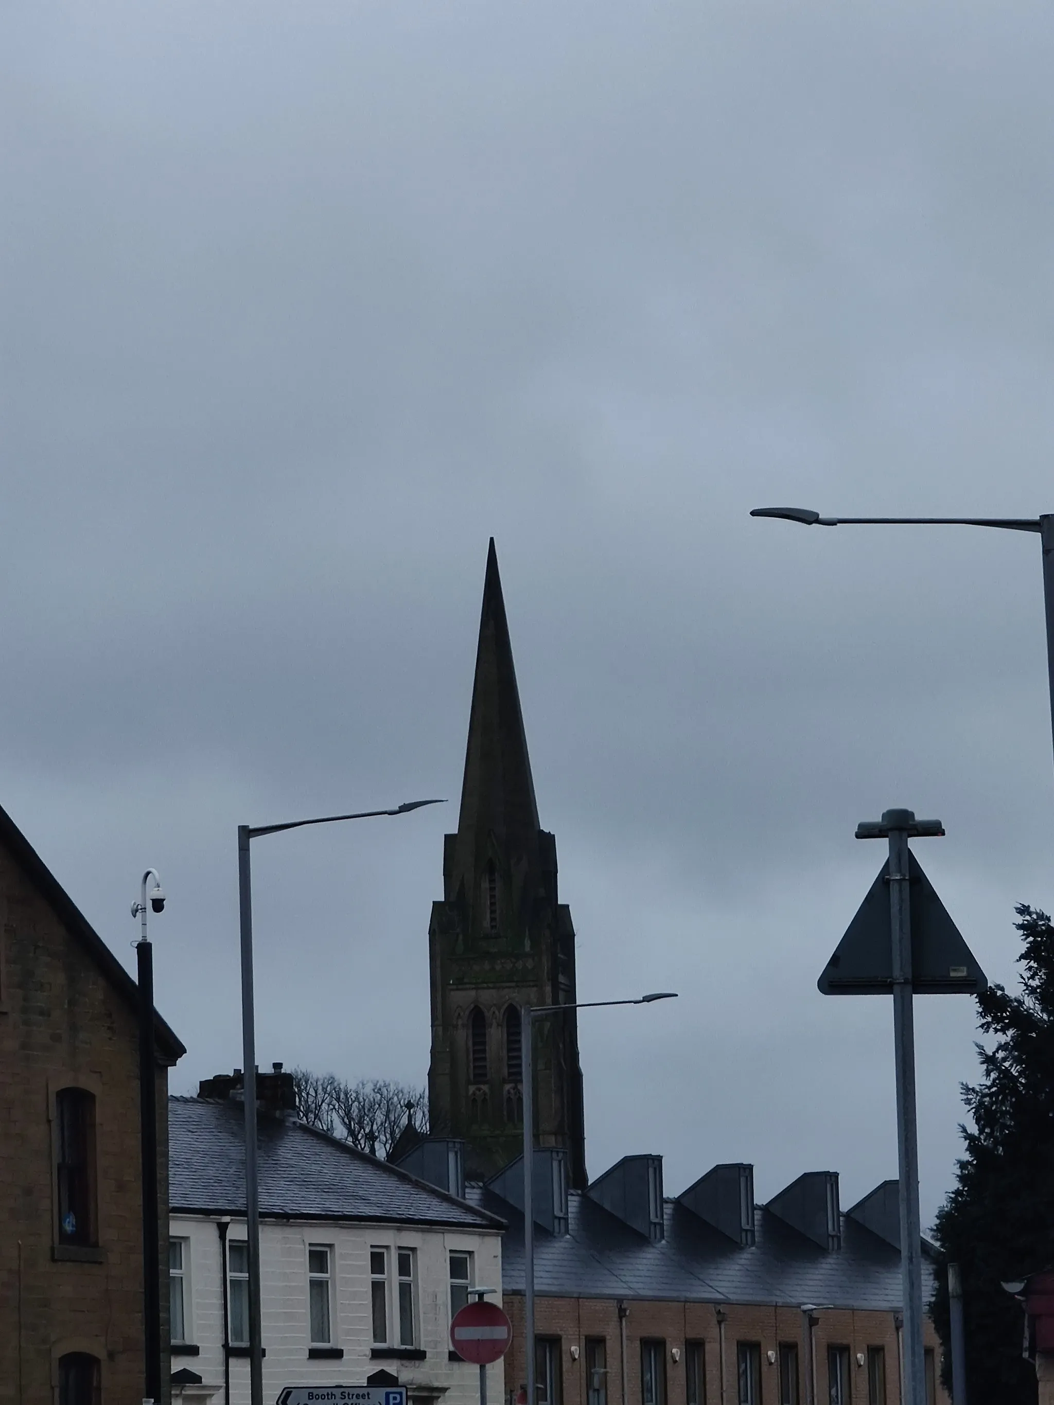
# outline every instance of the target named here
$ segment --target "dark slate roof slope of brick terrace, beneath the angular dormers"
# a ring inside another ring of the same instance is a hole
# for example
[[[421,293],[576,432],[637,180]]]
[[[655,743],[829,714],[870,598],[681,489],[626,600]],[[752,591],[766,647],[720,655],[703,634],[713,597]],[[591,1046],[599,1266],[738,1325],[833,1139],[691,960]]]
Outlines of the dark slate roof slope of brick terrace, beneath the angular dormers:
[[[523,1293],[523,1215],[493,1191],[469,1184],[474,1204],[502,1214],[502,1287]],[[534,1286],[545,1297],[646,1298],[687,1302],[805,1302],[898,1311],[901,1256],[878,1235],[842,1215],[842,1248],[824,1250],[763,1205],[756,1243],[741,1248],[676,1200],[665,1201],[666,1238],[651,1243],[589,1196],[568,1196],[568,1234],[535,1225]],[[933,1270],[923,1256],[923,1297]]]

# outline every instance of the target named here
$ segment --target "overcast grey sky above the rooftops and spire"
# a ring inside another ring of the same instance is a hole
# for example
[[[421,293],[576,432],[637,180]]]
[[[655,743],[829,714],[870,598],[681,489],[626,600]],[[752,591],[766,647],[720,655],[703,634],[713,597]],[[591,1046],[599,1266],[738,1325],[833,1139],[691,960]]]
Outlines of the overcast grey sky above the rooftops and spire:
[[[916,850],[989,978],[1054,903],[1047,4],[93,0],[0,20],[0,802],[173,1087],[423,1080],[488,535],[579,932],[593,1175],[897,1173],[891,1010],[816,976]],[[923,1218],[972,1002],[918,1003]]]

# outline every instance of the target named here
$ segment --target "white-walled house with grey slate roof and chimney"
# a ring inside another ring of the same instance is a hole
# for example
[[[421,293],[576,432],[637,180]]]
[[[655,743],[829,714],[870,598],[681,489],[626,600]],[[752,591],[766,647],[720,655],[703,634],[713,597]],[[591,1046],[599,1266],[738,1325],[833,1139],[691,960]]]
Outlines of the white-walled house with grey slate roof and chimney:
[[[289,1075],[260,1083],[278,1079],[285,1092]],[[173,1399],[187,1402],[249,1402],[239,1082],[209,1079],[212,1096],[169,1103]],[[450,1319],[471,1287],[500,1290],[502,1221],[288,1107],[261,1109],[259,1138],[264,1398],[381,1371],[377,1384],[398,1380],[416,1405],[475,1405],[479,1371],[451,1353]],[[499,1361],[488,1397],[503,1394]]]

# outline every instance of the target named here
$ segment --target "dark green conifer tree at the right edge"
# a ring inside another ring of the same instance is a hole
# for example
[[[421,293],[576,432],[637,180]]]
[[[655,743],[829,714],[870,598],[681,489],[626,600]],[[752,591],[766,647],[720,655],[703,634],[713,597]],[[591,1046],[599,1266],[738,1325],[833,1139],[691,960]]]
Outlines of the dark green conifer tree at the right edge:
[[[1034,1405],[1036,1371],[1022,1357],[1022,1305],[1001,1281],[1054,1264],[1054,927],[1019,906],[1022,989],[994,985],[978,998],[981,1082],[963,1085],[974,1131],[957,1186],[937,1214],[943,1260],[963,1270],[967,1390],[971,1401]],[[933,1322],[950,1385],[947,1283],[942,1272]]]

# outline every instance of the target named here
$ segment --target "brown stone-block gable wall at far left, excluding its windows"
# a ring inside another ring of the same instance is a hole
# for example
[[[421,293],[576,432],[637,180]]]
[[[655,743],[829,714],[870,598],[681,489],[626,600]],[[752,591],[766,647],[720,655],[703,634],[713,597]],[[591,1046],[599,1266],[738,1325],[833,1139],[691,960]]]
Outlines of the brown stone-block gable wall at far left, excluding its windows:
[[[104,1405],[138,1402],[143,1349],[135,1012],[1,846],[0,919],[0,1405],[49,1405],[58,1398],[58,1357],[76,1350],[100,1359]],[[97,1100],[97,1263],[53,1259],[53,1113],[55,1093],[65,1086],[86,1087]],[[157,1071],[157,1107],[164,1205],[164,1068]],[[160,1238],[164,1264],[164,1217]],[[166,1359],[164,1380],[169,1370]]]

